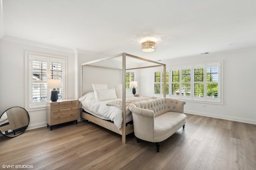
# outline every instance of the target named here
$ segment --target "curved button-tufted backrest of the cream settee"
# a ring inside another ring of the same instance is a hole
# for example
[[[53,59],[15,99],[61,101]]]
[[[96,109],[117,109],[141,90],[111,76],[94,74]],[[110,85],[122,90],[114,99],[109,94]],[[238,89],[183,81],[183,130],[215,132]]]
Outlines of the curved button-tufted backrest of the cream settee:
[[[136,107],[154,111],[154,117],[156,117],[166,112],[184,113],[184,107],[180,106],[186,104],[186,102],[171,98],[157,98],[148,101],[135,102],[133,104]]]

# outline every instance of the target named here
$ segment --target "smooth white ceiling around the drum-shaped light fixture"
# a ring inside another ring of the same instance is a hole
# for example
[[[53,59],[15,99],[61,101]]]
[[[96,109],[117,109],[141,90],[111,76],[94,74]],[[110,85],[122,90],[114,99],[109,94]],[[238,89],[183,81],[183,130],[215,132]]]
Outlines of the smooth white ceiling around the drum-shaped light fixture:
[[[256,47],[256,0],[1,1],[2,35],[69,49],[158,61]]]

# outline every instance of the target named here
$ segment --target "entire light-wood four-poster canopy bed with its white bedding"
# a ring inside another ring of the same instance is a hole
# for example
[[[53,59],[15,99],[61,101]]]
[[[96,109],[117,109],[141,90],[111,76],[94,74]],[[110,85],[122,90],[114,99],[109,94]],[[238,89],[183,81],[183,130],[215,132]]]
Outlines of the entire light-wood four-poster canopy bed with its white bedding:
[[[127,68],[126,57],[156,65]],[[101,64],[98,65],[97,63]],[[122,67],[120,66],[120,63],[122,63]],[[81,93],[79,98],[83,109],[81,118],[122,135],[122,143],[126,143],[126,135],[134,131],[132,114],[128,109],[128,104],[136,101],[153,99],[152,97],[133,97],[130,91],[131,89],[126,89],[125,87],[126,71],[158,66],[163,66],[163,70],[166,72],[166,64],[126,53],[81,64]],[[102,71],[100,74],[97,74],[96,72],[99,72],[99,68]],[[110,77],[106,77],[109,75]],[[103,78],[100,76],[103,76]],[[165,76],[166,75],[164,74],[164,97],[166,97]],[[97,80],[95,80],[95,77],[97,77]],[[95,81],[98,82],[95,83]],[[115,88],[112,88],[113,86],[115,86]],[[111,115],[111,113],[114,113],[114,116]]]

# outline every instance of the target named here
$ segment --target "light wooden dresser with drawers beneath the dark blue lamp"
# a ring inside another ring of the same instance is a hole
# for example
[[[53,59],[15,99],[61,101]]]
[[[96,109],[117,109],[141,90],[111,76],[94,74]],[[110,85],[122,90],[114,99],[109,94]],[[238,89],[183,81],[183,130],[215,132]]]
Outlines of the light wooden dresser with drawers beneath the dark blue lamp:
[[[52,130],[53,125],[76,121],[78,119],[78,100],[67,99],[57,102],[47,101],[47,127]]]

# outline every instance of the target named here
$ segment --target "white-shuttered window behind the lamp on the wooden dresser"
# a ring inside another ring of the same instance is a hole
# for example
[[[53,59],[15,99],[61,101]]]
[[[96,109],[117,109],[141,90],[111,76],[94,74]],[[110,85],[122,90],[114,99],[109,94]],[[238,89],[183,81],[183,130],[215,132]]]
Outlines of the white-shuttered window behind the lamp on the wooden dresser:
[[[26,53],[26,57],[28,58],[28,109],[45,107],[46,101],[50,100],[52,89],[47,88],[47,79],[62,80],[62,88],[57,90],[59,99],[64,99],[66,59],[31,53]]]

